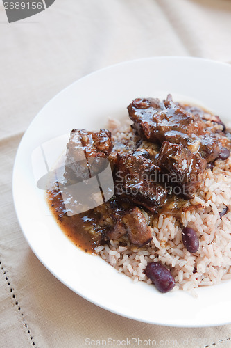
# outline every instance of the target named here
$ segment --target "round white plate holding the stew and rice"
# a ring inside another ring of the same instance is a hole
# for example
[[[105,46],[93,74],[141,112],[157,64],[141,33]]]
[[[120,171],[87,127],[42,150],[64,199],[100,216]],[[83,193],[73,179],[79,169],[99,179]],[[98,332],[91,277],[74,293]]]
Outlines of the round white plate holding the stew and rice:
[[[38,113],[19,145],[13,196],[22,231],[37,258],[85,299],[119,315],[169,326],[231,322],[231,281],[201,287],[195,299],[181,290],[161,294],[133,283],[101,258],[80,251],[62,233],[37,189],[31,153],[73,128],[99,129],[108,116],[126,118],[135,97],[166,97],[201,104],[230,120],[231,66],[200,58],[157,57],[114,65],[62,90]]]

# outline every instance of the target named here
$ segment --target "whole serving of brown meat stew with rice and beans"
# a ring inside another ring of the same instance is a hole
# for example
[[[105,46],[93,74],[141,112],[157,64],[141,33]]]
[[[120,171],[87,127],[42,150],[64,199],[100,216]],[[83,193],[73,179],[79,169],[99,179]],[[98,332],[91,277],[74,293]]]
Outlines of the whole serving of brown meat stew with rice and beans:
[[[171,95],[137,98],[128,116],[132,125],[111,120],[110,130],[72,130],[62,185],[47,191],[62,230],[160,292],[231,278],[230,132],[219,116]],[[69,216],[63,183],[98,177],[105,161],[114,194],[102,201],[101,183],[94,197],[101,203]]]

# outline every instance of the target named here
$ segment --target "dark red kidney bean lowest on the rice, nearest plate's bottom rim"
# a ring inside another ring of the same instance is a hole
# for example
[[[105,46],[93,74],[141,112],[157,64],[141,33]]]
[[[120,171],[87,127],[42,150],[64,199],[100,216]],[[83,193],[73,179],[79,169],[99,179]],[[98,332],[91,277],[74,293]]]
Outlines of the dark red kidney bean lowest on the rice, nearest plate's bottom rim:
[[[159,262],[148,263],[145,274],[160,292],[169,292],[175,286],[175,279],[169,269],[166,269]]]

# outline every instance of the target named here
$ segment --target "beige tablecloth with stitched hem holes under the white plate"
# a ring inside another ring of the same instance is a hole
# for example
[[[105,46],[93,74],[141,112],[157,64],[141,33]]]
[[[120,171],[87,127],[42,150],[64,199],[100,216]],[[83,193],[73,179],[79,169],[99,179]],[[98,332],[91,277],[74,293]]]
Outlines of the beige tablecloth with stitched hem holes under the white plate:
[[[155,340],[156,347],[231,346],[231,325],[144,324],[71,292],[28,247],[11,193],[22,134],[59,90],[106,65],[146,56],[231,62],[230,38],[230,0],[56,0],[46,11],[12,24],[1,3],[1,348],[86,347],[89,340],[93,345],[108,338],[128,339],[123,347],[130,347],[131,338]]]

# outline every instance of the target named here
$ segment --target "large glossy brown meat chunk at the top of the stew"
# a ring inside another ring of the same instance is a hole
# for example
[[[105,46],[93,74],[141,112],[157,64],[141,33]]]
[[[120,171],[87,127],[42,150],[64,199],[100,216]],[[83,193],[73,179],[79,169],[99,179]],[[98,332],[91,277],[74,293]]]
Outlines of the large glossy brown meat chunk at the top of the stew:
[[[170,95],[165,102],[137,98],[128,106],[128,113],[139,135],[149,141],[166,140],[186,145],[189,135],[201,135],[205,128],[200,116],[173,103]]]

